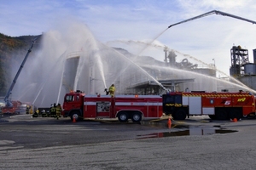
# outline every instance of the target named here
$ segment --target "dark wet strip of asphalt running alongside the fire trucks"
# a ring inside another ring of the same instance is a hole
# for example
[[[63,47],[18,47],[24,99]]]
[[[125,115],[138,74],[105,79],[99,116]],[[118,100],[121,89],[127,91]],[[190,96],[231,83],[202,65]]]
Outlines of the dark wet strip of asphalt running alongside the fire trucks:
[[[244,122],[238,123],[241,126]],[[0,117],[0,141],[11,141],[14,148],[33,149],[132,139],[236,133],[238,130],[230,128],[236,124],[237,122],[228,121],[213,122],[207,116],[193,117],[184,121],[172,120],[172,125],[168,126],[168,119],[144,119],[141,123],[121,123],[100,119],[74,123],[69,118],[62,117],[56,120],[53,117],[32,117],[21,114]]]

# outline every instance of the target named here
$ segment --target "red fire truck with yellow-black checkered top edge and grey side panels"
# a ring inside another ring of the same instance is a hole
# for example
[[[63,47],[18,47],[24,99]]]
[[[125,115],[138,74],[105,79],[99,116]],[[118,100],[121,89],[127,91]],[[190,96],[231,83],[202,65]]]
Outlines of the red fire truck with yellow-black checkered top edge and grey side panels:
[[[255,116],[255,98],[246,92],[206,93],[172,92],[163,95],[163,112],[173,119],[208,115],[211,119],[228,120]]]

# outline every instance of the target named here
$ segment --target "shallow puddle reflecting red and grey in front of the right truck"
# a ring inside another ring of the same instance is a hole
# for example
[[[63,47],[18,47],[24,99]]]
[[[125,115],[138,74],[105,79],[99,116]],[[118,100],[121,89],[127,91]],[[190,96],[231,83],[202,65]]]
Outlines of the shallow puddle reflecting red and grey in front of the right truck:
[[[163,133],[150,133],[145,135],[138,135],[138,139],[150,139],[150,138],[164,138],[173,136],[191,136],[191,135],[212,135],[215,133],[236,133],[236,130],[228,130],[224,128],[216,129],[211,127],[189,127],[189,126],[177,126],[175,128],[189,128],[186,130],[180,130],[176,132],[163,132]]]

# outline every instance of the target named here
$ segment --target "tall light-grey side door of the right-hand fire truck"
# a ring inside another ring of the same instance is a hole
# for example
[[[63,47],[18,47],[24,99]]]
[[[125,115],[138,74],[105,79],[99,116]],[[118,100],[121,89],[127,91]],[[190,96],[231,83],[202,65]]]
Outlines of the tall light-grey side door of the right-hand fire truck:
[[[189,115],[201,115],[201,97],[189,97]]]

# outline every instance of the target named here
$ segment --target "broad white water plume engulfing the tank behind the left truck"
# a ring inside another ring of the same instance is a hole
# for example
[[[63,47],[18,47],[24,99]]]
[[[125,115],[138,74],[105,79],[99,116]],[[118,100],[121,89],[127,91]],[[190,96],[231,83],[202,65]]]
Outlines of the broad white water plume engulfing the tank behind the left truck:
[[[68,26],[44,32],[42,48],[32,51],[26,63],[29,66],[21,72],[21,81],[17,82],[14,94],[19,96],[31,84],[35,84],[35,88],[20,97],[21,101],[49,107],[62,103],[70,90],[82,90],[85,94],[104,93],[105,88],[115,83],[116,93],[121,94],[131,85],[125,79],[127,74],[133,77],[131,70],[137,71],[137,68],[131,67],[125,71],[125,77],[116,79],[127,60],[115,49],[96,41],[83,24]]]

